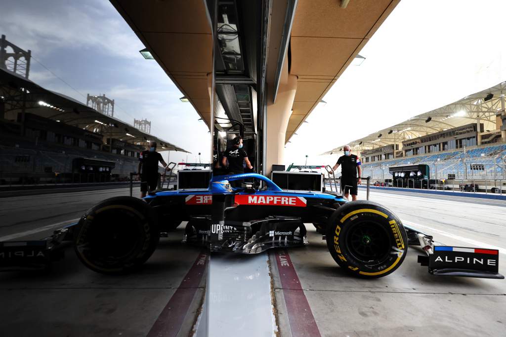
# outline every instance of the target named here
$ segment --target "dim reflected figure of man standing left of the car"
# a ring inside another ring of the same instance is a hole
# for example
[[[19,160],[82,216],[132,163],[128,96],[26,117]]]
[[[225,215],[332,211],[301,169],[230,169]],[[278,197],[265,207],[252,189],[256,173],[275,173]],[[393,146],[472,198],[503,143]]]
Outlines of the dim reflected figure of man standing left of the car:
[[[141,178],[141,198],[146,197],[146,192],[148,190],[152,191],[156,189],[159,177],[158,162],[160,162],[164,168],[167,168],[167,163],[165,163],[160,153],[156,152],[156,141],[150,141],[149,150],[143,151],[139,155],[137,178]]]

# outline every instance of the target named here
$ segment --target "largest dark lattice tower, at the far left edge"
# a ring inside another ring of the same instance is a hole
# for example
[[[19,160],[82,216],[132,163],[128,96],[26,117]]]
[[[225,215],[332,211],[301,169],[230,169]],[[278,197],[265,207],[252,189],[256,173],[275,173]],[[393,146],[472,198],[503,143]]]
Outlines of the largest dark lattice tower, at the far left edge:
[[[28,78],[30,73],[31,51],[24,51],[9,42],[5,35],[0,39],[0,68],[7,69]]]

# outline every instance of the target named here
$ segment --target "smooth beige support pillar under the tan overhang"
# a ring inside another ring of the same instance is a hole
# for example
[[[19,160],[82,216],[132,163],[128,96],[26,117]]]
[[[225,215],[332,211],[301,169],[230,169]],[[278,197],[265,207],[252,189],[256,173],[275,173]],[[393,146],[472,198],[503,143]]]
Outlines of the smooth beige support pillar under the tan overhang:
[[[285,164],[285,134],[296,91],[297,76],[288,75],[286,81],[279,83],[276,103],[267,104],[267,163],[265,166],[267,176],[272,171],[272,165]]]

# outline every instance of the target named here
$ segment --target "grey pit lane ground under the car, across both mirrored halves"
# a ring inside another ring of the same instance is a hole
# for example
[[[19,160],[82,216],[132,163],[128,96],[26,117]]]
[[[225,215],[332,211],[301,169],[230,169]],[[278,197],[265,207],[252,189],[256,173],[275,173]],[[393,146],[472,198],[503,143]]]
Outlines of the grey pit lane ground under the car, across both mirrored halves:
[[[359,193],[365,196],[362,190]],[[128,194],[125,188],[2,199],[0,240],[45,237],[100,200]],[[370,199],[446,245],[498,248],[499,272],[506,274],[506,265],[501,262],[506,255],[506,202],[376,190],[371,191]],[[391,275],[356,279],[335,264],[314,227],[307,224],[307,228],[310,245],[287,252],[299,290],[283,279],[277,252],[266,254],[268,259],[255,259],[256,264],[265,261],[270,268],[264,274],[271,277],[274,294],[277,332],[265,335],[301,335],[288,314],[288,297],[294,291],[307,299],[316,331],[325,336],[504,335],[505,280],[430,275],[427,267],[416,263],[417,255],[423,254],[411,247],[401,267]],[[205,309],[202,313],[208,274],[202,274],[207,268],[202,261],[206,257],[200,248],[181,243],[183,231],[181,225],[169,237],[161,238],[159,249],[136,274],[95,273],[80,264],[71,248],[50,271],[0,273],[0,331],[20,336],[193,335],[195,331],[205,335],[203,326],[210,324],[206,317],[213,316]],[[212,262],[217,259],[211,256]],[[240,259],[245,263],[254,260],[247,256]],[[227,272],[226,265],[221,268],[220,273]],[[235,284],[247,285],[237,280]],[[175,299],[181,299],[187,308],[178,311],[181,304]],[[248,306],[247,301],[241,302]],[[171,319],[175,326],[166,325]],[[251,317],[243,320],[243,326],[255,324]],[[238,332],[230,329],[221,335]]]

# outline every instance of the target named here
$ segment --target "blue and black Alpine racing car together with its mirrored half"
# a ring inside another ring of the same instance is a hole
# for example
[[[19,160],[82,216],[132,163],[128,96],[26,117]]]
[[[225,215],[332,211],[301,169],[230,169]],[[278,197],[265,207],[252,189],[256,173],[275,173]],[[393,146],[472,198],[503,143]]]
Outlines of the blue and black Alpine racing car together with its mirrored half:
[[[241,187],[232,187],[231,182],[237,181],[243,181]],[[107,199],[78,223],[56,231],[44,245],[2,243],[0,266],[27,261],[31,266],[47,264],[59,256],[57,248],[71,239],[88,268],[128,272],[152,255],[160,233],[183,221],[187,221],[184,241],[212,252],[257,254],[304,246],[308,244],[305,224],[313,223],[335,262],[358,277],[394,272],[408,245],[414,245],[426,253],[418,262],[429,266],[434,275],[503,278],[498,273],[497,250],[435,246],[432,236],[403,226],[393,212],[377,203],[348,202],[334,191],[282,190],[256,173],[215,176],[207,189],[198,191],[160,191],[143,200]]]

